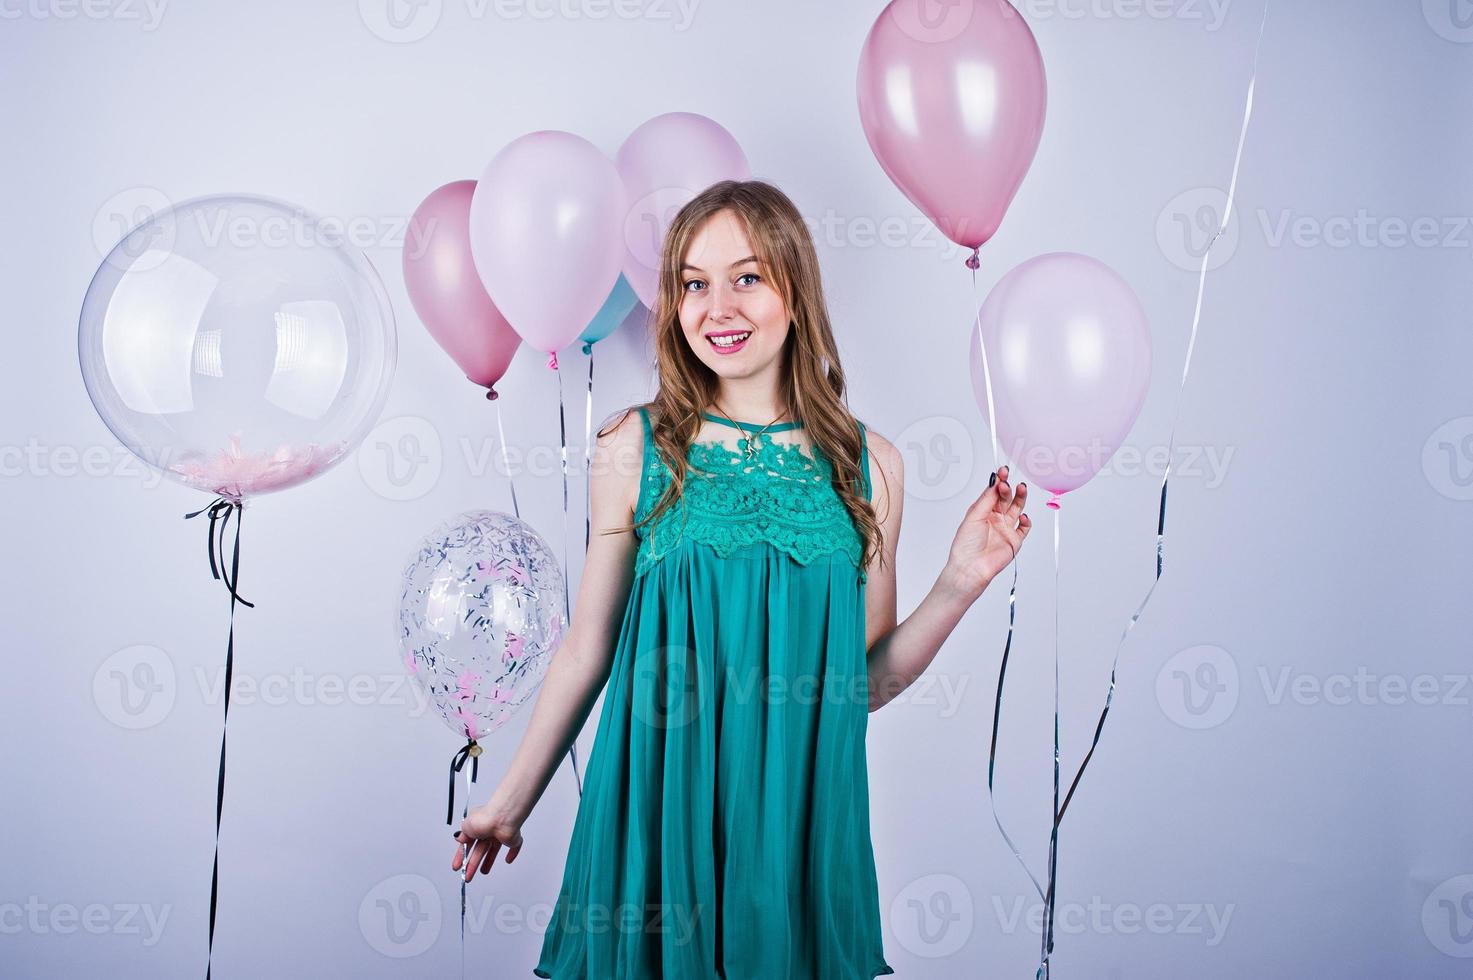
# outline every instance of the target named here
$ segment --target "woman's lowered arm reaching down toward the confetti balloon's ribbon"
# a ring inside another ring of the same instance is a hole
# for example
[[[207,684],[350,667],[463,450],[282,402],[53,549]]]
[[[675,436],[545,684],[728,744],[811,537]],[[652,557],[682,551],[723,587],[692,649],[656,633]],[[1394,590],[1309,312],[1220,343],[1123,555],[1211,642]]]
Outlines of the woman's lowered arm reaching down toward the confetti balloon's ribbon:
[[[589,535],[583,579],[577,591],[573,622],[552,654],[546,676],[532,706],[526,734],[507,774],[491,799],[473,808],[461,824],[458,840],[476,840],[465,861],[465,880],[477,868],[485,874],[495,864],[501,844],[507,862],[521,849],[521,824],[552,781],[564,756],[582,731],[598,693],[608,681],[614,644],[629,601],[636,538],[632,531],[600,533],[600,529],[629,525],[639,500],[644,461],[644,426],[630,411],[619,426],[597,441],[589,473]],[[457,849],[451,867],[461,869]]]

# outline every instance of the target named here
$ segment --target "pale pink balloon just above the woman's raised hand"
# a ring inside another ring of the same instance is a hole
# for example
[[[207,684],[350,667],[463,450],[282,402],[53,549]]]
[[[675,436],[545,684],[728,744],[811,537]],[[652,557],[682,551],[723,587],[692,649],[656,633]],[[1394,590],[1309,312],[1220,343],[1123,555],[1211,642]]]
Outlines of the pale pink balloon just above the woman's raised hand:
[[[1050,252],[1003,276],[980,318],[977,404],[985,414],[985,343],[1000,448],[1058,507],[1058,494],[1099,473],[1136,424],[1150,385],[1146,311],[1099,259]]]

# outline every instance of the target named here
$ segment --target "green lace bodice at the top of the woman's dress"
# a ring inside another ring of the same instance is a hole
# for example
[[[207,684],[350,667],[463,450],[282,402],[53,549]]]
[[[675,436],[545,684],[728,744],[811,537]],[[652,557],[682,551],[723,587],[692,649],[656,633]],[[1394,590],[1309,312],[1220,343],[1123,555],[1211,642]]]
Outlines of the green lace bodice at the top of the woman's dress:
[[[639,410],[644,421],[645,449],[639,486],[639,504],[635,520],[654,510],[660,495],[670,483],[672,475],[651,438],[650,417]],[[722,424],[734,424],[719,416],[706,419]],[[801,427],[803,423],[769,426],[767,432]],[[744,432],[760,426],[738,424]],[[869,500],[869,449],[865,442],[865,426],[860,423],[860,473],[863,494]],[[657,522],[636,529],[639,548],[635,553],[635,576],[644,575],[660,559],[670,554],[683,539],[709,545],[722,557],[731,557],[741,548],[766,541],[800,564],[815,559],[843,553],[854,563],[859,581],[868,579],[860,567],[863,539],[854,528],[848,511],[834,489],[834,467],[815,452],[809,455],[801,447],[775,442],[766,436],[759,439],[757,451],[747,457],[747,439],[738,441],[736,449],[720,442],[694,442],[688,460],[685,492],[673,507]]]

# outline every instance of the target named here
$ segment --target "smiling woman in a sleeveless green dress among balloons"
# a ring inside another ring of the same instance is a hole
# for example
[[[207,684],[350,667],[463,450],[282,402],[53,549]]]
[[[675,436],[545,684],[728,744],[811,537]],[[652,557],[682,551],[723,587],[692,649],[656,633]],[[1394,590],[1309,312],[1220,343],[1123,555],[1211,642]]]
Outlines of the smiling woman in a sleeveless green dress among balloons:
[[[505,778],[455,834],[470,881],[608,684],[536,976],[871,980],[869,712],[919,676],[1031,528],[1008,472],[896,623],[899,451],[844,404],[792,202],[725,181],[675,218],[660,389],[598,433],[577,615]],[[873,458],[873,461],[871,461]],[[465,844],[470,844],[467,858]]]

